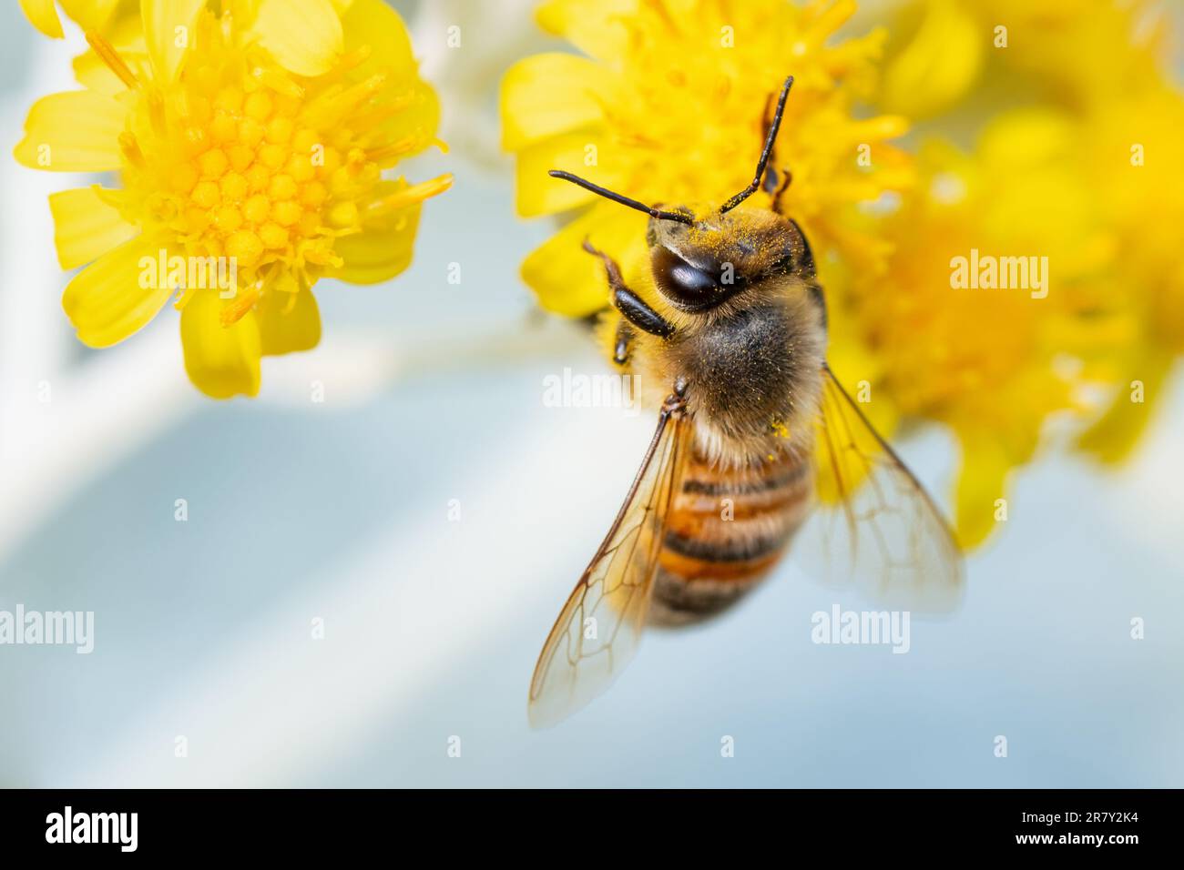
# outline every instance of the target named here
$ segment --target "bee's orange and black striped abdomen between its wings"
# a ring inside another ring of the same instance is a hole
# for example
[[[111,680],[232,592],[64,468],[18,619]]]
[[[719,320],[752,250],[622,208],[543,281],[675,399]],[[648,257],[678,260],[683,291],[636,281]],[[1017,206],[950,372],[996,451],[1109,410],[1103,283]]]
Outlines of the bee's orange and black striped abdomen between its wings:
[[[734,604],[780,560],[812,490],[807,457],[720,470],[693,455],[667,515],[649,621],[697,623]]]

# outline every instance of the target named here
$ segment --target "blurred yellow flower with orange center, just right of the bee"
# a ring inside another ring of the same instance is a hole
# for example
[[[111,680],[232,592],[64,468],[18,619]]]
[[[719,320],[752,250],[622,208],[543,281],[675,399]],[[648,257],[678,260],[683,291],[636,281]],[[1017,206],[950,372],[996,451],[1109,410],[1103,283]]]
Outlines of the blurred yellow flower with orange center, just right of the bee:
[[[1077,135],[1072,117],[1035,109],[997,117],[972,154],[929,141],[922,182],[881,227],[893,246],[884,272],[828,286],[837,334],[879,361],[838,370],[873,384],[873,405],[890,405],[882,417],[938,420],[958,438],[955,527],[967,548],[997,528],[1006,479],[1049,415],[1081,407],[1090,361],[1131,336],[1101,303],[1115,246],[1103,204],[1080,182]],[[969,269],[1022,257],[1036,271],[1027,286],[964,286],[959,257]]]

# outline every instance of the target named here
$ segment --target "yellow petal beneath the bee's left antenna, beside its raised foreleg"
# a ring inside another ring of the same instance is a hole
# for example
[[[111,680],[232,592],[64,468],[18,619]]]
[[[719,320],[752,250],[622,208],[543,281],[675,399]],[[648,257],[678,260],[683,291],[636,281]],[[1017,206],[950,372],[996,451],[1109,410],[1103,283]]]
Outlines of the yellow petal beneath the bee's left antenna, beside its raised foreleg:
[[[614,202],[599,202],[522,262],[522,279],[539,304],[568,317],[585,317],[609,304],[604,264],[584,250],[587,239],[623,268],[645,247],[645,215],[622,214]]]

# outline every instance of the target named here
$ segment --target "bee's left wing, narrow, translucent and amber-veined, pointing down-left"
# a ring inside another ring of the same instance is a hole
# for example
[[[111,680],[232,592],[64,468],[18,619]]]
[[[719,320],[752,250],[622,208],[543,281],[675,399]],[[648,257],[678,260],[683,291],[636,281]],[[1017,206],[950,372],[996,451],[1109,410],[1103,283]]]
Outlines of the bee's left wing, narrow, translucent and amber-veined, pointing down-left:
[[[539,653],[530,724],[553,724],[583,707],[633,657],[690,430],[689,418],[663,410],[625,503]]]

